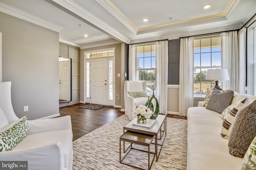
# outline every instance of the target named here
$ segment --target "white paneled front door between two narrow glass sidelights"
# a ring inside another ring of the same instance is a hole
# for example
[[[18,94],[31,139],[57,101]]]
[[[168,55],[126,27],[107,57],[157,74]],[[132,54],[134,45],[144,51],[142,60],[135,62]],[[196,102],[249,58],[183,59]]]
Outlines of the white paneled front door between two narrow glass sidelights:
[[[107,105],[107,58],[91,59],[91,103]]]

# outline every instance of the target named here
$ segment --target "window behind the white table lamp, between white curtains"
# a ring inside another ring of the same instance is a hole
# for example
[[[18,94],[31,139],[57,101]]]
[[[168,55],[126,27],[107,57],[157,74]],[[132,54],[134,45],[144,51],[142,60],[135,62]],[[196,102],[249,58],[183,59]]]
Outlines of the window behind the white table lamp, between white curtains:
[[[194,39],[194,96],[203,97],[215,81],[205,80],[208,69],[221,68],[221,37]],[[221,85],[221,82],[219,82]]]

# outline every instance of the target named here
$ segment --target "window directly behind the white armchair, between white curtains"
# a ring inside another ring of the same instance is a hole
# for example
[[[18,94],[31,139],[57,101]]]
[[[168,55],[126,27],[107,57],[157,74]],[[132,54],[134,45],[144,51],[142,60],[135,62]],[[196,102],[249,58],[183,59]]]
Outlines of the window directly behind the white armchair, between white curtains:
[[[138,80],[146,80],[148,94],[156,88],[156,43],[137,46]]]

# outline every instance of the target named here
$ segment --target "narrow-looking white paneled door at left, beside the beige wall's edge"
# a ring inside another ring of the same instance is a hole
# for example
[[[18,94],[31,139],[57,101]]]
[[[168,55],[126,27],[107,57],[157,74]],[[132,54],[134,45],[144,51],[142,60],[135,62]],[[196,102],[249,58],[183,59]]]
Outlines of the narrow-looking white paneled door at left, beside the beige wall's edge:
[[[70,100],[70,61],[59,61],[60,102]]]

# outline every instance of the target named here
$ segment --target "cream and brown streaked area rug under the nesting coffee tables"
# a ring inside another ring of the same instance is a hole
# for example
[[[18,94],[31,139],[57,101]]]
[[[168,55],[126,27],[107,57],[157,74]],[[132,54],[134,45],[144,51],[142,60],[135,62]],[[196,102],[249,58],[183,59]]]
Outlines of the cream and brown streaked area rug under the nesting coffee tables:
[[[129,122],[128,117],[122,115],[74,141],[73,170],[138,170],[119,163],[119,137]],[[166,139],[159,160],[154,160],[151,170],[186,170],[187,120],[167,117],[166,125]],[[136,157],[128,158],[128,162],[147,169],[145,153],[136,153]]]

